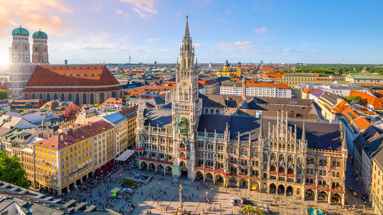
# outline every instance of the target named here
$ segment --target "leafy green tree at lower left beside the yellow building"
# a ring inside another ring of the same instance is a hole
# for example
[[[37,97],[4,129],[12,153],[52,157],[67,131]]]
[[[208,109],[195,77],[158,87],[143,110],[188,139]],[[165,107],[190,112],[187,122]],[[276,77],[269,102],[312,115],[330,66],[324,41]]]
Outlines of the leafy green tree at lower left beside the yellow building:
[[[19,187],[28,188],[26,171],[16,155],[8,156],[6,150],[0,151],[0,180]]]

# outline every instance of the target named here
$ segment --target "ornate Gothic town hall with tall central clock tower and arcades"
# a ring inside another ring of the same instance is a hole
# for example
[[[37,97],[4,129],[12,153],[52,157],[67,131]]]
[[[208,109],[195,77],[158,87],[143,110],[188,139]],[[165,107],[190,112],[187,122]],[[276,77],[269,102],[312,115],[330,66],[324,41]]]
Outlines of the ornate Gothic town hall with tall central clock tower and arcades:
[[[169,104],[137,110],[141,169],[344,203],[347,145],[339,124],[290,114],[311,107],[308,100],[198,94],[194,56],[187,20]],[[264,107],[280,108],[269,116],[256,110],[267,99]]]

